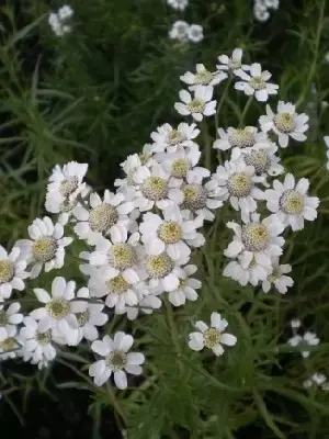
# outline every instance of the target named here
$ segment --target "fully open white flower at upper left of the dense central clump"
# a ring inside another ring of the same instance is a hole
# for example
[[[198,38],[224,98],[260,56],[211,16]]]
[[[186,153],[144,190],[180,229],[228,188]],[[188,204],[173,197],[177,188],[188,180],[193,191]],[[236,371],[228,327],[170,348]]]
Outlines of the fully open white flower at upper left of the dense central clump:
[[[172,203],[180,203],[180,191],[170,184],[170,175],[158,164],[148,169],[145,166],[134,173],[134,205],[140,212],[150,211],[154,206],[166,209]]]

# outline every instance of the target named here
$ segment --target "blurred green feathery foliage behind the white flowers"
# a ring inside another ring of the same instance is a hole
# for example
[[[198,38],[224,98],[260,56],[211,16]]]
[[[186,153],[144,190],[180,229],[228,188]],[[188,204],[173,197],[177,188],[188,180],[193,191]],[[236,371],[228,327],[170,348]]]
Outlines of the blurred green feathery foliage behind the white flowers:
[[[173,110],[179,77],[196,63],[213,69],[218,55],[242,47],[247,61],[259,61],[273,72],[280,99],[296,102],[311,120],[308,142],[282,151],[286,169],[309,178],[313,194],[321,199],[318,221],[287,236],[284,261],[293,264],[292,291],[264,295],[222,277],[223,249],[230,239],[224,224],[231,213],[220,211],[213,239],[195,257],[203,280],[200,300],[179,309],[167,303],[163,313],[133,325],[118,317],[109,324],[110,334],[124,328],[136,336],[148,359],[140,382],[126,392],[95,390],[86,376],[83,358],[89,361],[89,353],[82,350],[75,357],[70,351],[59,359],[73,370],[75,380],[60,380],[56,387],[88,390],[81,393],[95,426],[105,409],[132,439],[329,437],[328,393],[303,390],[309,373],[329,376],[329,192],[322,142],[329,134],[322,104],[329,100],[329,66],[324,61],[328,5],[326,0],[281,3],[268,23],[257,24],[252,2],[245,0],[191,0],[180,13],[164,0],[77,0],[70,3],[73,32],[64,38],[55,37],[47,24],[49,7],[55,10],[60,2],[31,0],[1,8],[2,245],[25,237],[32,219],[45,213],[46,181],[55,164],[88,161],[89,183],[99,191],[113,188],[125,156],[139,151],[158,125],[180,121]],[[203,24],[204,41],[170,41],[168,30],[178,19]],[[245,95],[228,90],[219,125],[237,125],[245,104]],[[254,124],[263,112],[263,105],[253,103],[245,122]],[[200,139],[202,148],[214,134],[209,126],[209,136]],[[215,157],[211,161],[215,169]],[[78,243],[70,255],[77,256],[81,247]],[[65,275],[83,282],[73,258]],[[48,285],[52,277],[34,283]],[[238,337],[236,348],[219,359],[186,347],[191,323],[207,320],[212,311],[223,312]],[[288,320],[296,316],[321,339],[303,361],[285,345]],[[30,370],[13,374],[7,368],[4,397],[20,419],[24,410],[11,402],[11,389],[26,395],[35,387],[47,392],[50,375]]]

